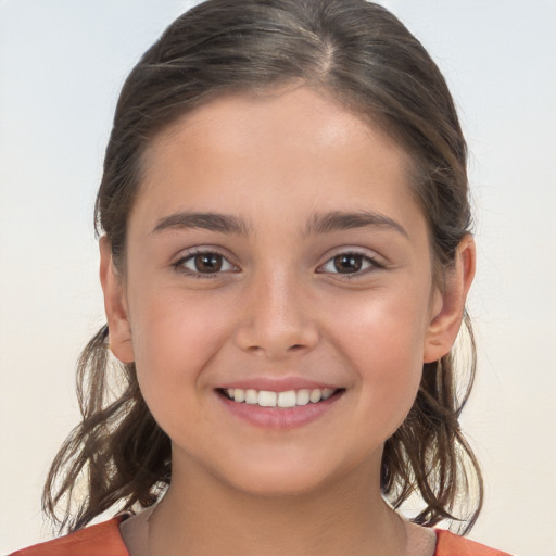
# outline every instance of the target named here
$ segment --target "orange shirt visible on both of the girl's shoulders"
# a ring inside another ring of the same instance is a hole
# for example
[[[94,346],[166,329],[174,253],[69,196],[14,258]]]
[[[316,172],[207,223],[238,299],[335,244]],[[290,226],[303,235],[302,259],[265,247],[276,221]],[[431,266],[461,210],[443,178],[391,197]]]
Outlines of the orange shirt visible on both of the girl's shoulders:
[[[23,548],[11,556],[129,556],[119,534],[121,520],[116,517],[54,541]],[[435,529],[435,532],[434,556],[509,556],[443,529]]]

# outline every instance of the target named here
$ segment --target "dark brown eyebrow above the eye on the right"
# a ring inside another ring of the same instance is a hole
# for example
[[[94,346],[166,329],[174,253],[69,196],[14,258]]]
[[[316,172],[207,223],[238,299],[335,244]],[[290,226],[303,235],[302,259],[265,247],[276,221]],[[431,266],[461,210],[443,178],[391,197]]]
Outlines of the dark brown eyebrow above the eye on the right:
[[[330,233],[332,231],[366,228],[368,226],[390,228],[409,238],[409,235],[401,224],[389,216],[370,211],[316,214],[308,220],[303,233],[305,236],[312,233]]]

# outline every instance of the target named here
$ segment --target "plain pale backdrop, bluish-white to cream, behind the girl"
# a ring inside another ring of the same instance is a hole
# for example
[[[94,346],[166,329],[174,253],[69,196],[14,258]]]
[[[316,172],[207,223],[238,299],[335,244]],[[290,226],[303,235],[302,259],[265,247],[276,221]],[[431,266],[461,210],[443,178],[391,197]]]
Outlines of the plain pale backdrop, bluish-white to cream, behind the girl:
[[[445,74],[470,147],[486,478],[471,536],[556,555],[556,1],[383,1]],[[92,205],[126,74],[184,0],[0,0],[0,553],[50,538],[40,490],[103,323]]]

